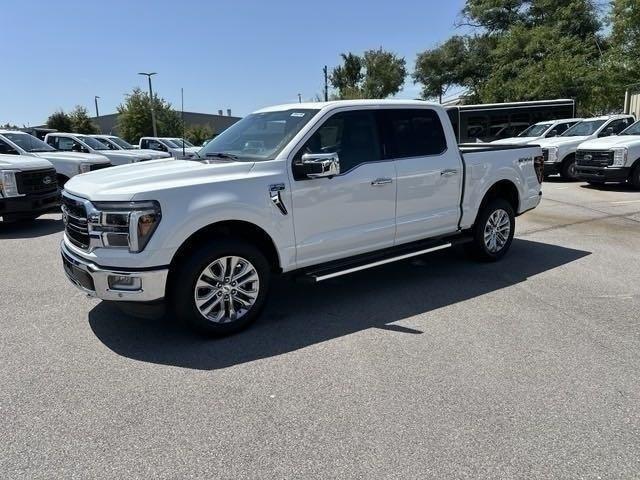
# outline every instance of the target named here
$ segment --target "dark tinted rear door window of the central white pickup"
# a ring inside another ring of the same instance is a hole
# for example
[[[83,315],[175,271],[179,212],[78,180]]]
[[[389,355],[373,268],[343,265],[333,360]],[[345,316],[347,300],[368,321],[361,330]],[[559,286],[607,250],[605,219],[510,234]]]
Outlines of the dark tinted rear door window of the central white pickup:
[[[391,158],[438,155],[447,141],[438,114],[427,109],[385,110]]]

